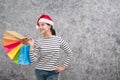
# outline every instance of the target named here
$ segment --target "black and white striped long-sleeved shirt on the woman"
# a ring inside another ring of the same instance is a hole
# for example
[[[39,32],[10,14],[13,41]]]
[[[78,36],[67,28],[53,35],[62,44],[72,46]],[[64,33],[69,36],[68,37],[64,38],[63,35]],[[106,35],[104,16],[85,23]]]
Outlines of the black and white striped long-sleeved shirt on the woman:
[[[63,66],[68,67],[73,56],[68,44],[58,36],[35,40],[34,47],[30,51],[30,58],[36,69],[55,70],[55,65],[59,65],[61,50],[67,54]]]

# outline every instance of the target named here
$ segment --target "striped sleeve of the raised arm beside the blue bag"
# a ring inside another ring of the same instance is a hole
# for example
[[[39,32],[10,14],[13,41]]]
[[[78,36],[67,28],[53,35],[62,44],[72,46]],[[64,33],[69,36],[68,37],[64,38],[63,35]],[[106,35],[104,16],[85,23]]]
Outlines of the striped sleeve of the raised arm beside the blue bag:
[[[38,60],[39,56],[40,56],[40,46],[38,43],[38,40],[34,41],[34,50],[30,50],[30,60],[31,63],[34,63]]]

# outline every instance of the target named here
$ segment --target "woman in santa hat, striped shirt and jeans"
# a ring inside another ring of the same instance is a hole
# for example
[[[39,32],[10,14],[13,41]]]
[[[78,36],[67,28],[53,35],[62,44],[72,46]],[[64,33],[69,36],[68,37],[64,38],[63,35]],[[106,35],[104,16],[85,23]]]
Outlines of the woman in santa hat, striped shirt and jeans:
[[[43,38],[39,41],[29,41],[31,50],[31,62],[35,63],[35,74],[37,80],[58,80],[58,74],[68,68],[72,51],[68,44],[56,36],[53,29],[53,21],[47,14],[41,15],[37,20],[37,29],[42,33]],[[64,64],[60,65],[61,49],[67,54]]]

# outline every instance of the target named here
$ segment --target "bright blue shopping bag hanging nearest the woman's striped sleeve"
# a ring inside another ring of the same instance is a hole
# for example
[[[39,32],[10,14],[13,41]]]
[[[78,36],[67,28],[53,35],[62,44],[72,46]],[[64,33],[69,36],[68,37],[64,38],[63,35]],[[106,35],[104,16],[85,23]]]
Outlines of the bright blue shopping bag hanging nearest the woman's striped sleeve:
[[[30,45],[23,44],[23,46],[20,49],[18,64],[27,65],[31,63],[29,52],[30,52]]]

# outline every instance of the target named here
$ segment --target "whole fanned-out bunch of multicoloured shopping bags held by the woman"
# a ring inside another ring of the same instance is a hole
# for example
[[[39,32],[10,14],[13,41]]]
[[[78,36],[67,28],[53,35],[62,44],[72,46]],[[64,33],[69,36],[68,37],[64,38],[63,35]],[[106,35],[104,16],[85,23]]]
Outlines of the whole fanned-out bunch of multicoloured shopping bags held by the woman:
[[[16,64],[30,64],[28,45],[29,39],[16,31],[5,31],[3,35],[3,46],[5,53]]]

